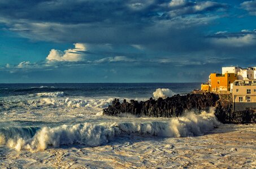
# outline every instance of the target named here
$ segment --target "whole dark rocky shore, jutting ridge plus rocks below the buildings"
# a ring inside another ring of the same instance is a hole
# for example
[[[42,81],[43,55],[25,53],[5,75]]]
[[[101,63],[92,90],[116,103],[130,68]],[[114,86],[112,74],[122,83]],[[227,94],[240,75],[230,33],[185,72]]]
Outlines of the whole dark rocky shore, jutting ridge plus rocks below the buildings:
[[[254,110],[232,112],[232,96],[218,95],[210,92],[203,94],[175,95],[166,99],[155,100],[152,97],[147,101],[126,100],[121,104],[118,99],[112,101],[112,105],[103,109],[103,114],[118,116],[130,113],[137,117],[180,117],[186,110],[208,110],[215,107],[215,116],[222,123],[255,123]],[[199,110],[199,111],[198,111]]]

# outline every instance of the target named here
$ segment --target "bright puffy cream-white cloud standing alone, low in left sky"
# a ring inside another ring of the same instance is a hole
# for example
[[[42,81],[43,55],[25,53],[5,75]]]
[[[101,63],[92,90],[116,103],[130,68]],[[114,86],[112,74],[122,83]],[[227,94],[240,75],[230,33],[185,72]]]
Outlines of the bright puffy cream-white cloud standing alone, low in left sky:
[[[63,51],[52,49],[46,57],[48,61],[82,61],[86,47],[83,43],[75,43],[75,48]]]

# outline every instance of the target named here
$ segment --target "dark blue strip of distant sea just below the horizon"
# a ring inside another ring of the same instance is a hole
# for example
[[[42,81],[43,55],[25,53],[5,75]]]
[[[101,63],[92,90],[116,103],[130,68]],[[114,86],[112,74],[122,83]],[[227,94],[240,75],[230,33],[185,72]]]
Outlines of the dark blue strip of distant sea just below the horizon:
[[[200,88],[200,83],[31,83],[0,84],[0,97],[64,92],[70,96],[151,97],[157,88],[169,88],[175,94],[187,94]]]

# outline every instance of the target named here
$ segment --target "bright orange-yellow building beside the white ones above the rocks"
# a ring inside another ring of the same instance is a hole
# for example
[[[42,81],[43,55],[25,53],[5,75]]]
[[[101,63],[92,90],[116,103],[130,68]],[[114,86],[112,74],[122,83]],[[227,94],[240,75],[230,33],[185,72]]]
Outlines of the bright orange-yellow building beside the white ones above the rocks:
[[[230,84],[237,79],[235,73],[211,73],[209,77],[210,91],[230,91]]]

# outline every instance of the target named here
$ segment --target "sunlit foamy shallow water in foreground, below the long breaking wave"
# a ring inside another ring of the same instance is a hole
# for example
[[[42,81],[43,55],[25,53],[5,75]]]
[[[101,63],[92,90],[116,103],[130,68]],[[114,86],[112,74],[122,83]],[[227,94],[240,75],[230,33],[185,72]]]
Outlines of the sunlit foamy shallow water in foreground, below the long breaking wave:
[[[126,136],[90,147],[31,152],[1,146],[1,168],[255,168],[255,125],[222,124],[198,137]]]

